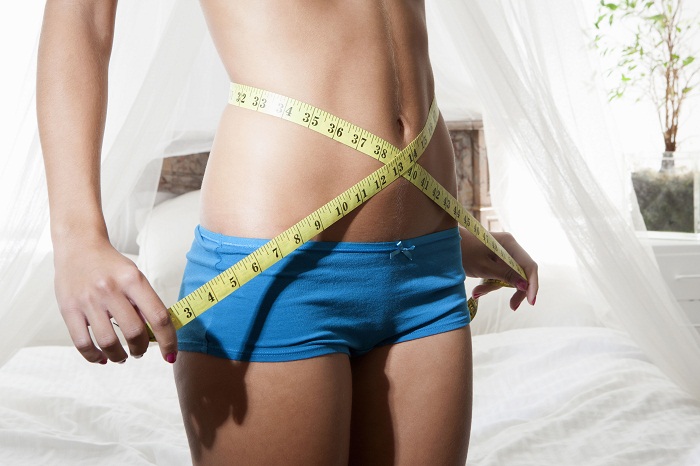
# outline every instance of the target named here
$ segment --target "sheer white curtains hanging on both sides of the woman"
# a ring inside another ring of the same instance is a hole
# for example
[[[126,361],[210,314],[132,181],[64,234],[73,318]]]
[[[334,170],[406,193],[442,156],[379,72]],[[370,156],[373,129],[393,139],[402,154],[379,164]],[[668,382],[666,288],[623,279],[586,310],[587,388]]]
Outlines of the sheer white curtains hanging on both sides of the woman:
[[[634,233],[639,214],[619,149],[594,81],[581,82],[591,63],[578,34],[579,2],[427,0],[438,101],[447,119],[483,114],[492,196],[521,243],[543,266],[577,264],[571,280],[585,280],[600,319],[628,331],[700,398],[698,337]],[[120,3],[102,166],[110,236],[123,251],[134,252],[160,158],[211,144],[226,84],[197,2]],[[29,115],[32,99],[24,102]],[[0,205],[0,363],[50,341],[43,329],[62,325],[33,124],[29,118],[31,131],[10,155],[21,163],[0,174],[0,183],[17,186]]]

